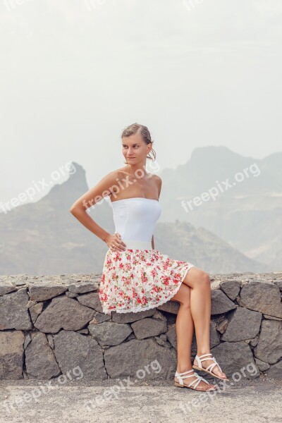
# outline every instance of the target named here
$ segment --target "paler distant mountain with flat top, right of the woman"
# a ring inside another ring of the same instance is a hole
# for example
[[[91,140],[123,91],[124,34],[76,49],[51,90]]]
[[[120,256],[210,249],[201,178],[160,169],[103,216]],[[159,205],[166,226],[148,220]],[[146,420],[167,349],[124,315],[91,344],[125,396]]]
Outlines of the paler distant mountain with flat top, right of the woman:
[[[162,221],[202,226],[273,271],[282,269],[282,152],[254,159],[200,147],[159,175]]]

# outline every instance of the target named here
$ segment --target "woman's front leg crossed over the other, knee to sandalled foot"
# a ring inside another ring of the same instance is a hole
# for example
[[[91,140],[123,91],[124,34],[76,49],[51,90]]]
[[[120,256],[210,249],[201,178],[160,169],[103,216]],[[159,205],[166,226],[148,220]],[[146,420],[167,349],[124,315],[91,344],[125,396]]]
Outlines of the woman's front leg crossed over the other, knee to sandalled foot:
[[[205,271],[195,266],[189,269],[183,283],[191,288],[190,310],[195,325],[197,355],[210,353],[209,326],[211,321],[211,280]],[[202,361],[202,367],[206,369],[212,363],[214,363],[214,360],[204,360]],[[197,363],[194,361],[194,364]],[[226,374],[221,372],[217,365],[214,366],[212,372],[227,379]]]

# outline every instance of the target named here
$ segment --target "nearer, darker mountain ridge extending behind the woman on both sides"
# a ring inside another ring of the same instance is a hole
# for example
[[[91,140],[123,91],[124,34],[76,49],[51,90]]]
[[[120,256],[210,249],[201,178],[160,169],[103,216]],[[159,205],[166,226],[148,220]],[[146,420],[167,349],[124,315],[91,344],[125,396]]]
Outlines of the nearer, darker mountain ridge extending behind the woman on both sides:
[[[73,167],[75,173],[38,202],[0,214],[0,274],[40,276],[102,271],[106,243],[70,213],[73,202],[89,190],[82,166],[73,163]],[[164,201],[160,203],[162,212],[166,212]],[[89,210],[92,219],[114,233],[109,200],[102,200]],[[195,228],[185,221],[159,221],[154,245],[171,258],[192,262],[208,272],[268,270],[265,264],[245,257],[207,229]]]

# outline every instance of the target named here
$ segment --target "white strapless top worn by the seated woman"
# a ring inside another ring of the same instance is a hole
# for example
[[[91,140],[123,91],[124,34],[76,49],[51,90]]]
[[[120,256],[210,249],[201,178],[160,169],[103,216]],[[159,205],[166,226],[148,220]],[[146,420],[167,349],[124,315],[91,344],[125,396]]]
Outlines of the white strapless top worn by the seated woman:
[[[137,242],[136,247],[144,245],[144,247],[149,248],[152,235],[154,235],[154,228],[159,216],[161,216],[159,201],[151,198],[133,197],[116,200],[111,202],[111,205],[116,232],[121,234],[121,239],[124,242],[130,241],[131,246]],[[130,245],[127,245],[127,247],[129,248]]]

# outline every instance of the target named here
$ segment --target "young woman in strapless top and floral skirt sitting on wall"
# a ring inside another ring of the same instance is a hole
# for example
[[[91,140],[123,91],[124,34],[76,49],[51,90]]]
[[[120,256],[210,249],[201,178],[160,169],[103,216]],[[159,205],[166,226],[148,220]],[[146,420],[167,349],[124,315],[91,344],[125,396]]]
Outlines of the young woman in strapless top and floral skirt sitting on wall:
[[[99,298],[103,312],[140,312],[164,304],[180,303],[176,317],[178,364],[174,384],[196,391],[216,391],[194,369],[228,380],[209,349],[211,281],[194,264],[171,259],[154,249],[154,227],[161,214],[161,178],[146,171],[153,141],[145,125],[133,123],[121,134],[125,166],[108,173],[80,197],[71,213],[101,238],[109,250],[104,260]],[[104,231],[86,209],[109,196],[116,232]],[[197,355],[191,364],[195,326]]]

